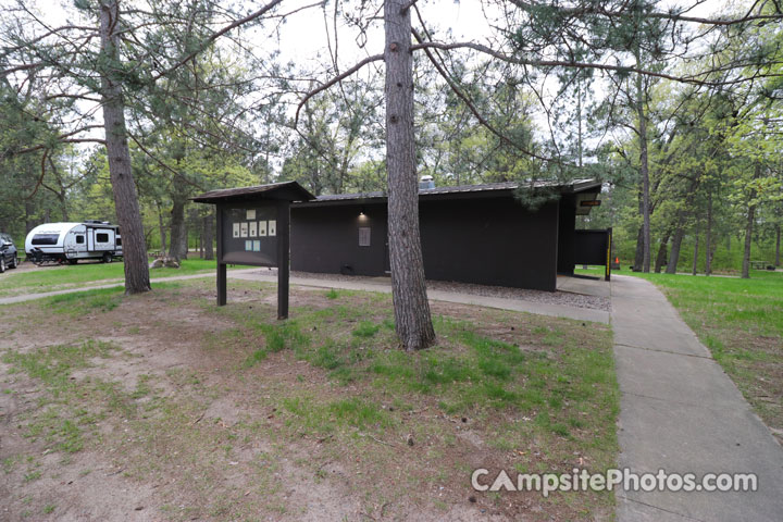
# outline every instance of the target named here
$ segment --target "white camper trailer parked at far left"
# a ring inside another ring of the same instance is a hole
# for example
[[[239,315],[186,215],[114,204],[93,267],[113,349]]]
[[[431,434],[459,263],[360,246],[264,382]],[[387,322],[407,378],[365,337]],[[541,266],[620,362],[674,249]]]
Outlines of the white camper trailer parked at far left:
[[[99,259],[111,263],[122,256],[120,227],[108,221],[46,223],[27,234],[25,252],[35,264],[76,264],[79,259]]]

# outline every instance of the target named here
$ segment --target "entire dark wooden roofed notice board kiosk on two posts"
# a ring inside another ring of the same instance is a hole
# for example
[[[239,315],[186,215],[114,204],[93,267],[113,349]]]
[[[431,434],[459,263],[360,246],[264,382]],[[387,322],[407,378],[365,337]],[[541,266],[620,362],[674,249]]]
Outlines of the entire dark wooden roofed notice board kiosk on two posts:
[[[277,268],[277,319],[288,318],[290,203],[315,197],[297,182],[211,190],[192,198],[216,207],[217,306],[226,303],[226,266]]]

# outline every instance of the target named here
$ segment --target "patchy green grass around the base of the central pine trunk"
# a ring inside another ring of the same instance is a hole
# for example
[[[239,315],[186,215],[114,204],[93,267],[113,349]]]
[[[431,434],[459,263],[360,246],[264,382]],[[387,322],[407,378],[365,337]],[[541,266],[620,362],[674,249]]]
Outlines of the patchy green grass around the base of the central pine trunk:
[[[394,323],[388,316],[359,320],[356,326],[346,328],[355,318],[364,315],[362,311],[349,304],[298,309],[296,320],[271,325],[248,320],[253,315],[243,312],[241,307],[228,313],[265,338],[265,346],[249,356],[246,366],[265,360],[271,352],[290,348],[297,359],[326,370],[328,377],[339,384],[370,386],[414,403],[425,397],[447,414],[475,414],[490,409],[540,417],[544,411],[542,419],[546,422],[538,426],[548,436],[567,438],[592,424],[569,410],[601,408],[597,417],[609,428],[601,430],[598,444],[614,446],[611,426],[619,406],[610,334],[605,327],[595,326],[589,332],[601,348],[584,349],[580,344],[584,327],[577,340],[571,322],[532,325],[529,333],[540,348],[523,349],[482,334],[471,322],[439,316],[435,327],[440,343],[419,353],[406,353],[396,349]],[[308,325],[307,333],[301,325]],[[308,419],[308,426],[313,425],[313,419],[323,417],[296,405],[289,403],[286,409]],[[321,407],[318,411],[325,408]]]

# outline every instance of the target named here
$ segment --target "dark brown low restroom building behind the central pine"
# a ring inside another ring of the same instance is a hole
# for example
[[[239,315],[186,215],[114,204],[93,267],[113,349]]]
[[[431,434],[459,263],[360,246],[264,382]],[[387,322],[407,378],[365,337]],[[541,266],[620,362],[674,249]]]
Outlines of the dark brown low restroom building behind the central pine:
[[[574,264],[587,262],[579,253],[584,237],[576,215],[589,212],[582,202],[595,200],[601,184],[538,186],[560,197],[535,211],[514,198],[520,186],[513,182],[420,189],[426,277],[554,291],[558,273],[573,274]],[[384,194],[321,196],[294,203],[290,213],[291,270],[388,273]]]

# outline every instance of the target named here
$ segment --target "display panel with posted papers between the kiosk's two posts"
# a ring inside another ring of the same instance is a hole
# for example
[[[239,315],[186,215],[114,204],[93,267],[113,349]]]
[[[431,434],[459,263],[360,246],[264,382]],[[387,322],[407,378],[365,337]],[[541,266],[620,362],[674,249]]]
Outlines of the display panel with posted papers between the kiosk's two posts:
[[[249,204],[252,208],[221,206],[221,262],[277,266],[277,203],[259,201]]]

